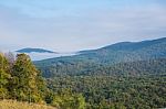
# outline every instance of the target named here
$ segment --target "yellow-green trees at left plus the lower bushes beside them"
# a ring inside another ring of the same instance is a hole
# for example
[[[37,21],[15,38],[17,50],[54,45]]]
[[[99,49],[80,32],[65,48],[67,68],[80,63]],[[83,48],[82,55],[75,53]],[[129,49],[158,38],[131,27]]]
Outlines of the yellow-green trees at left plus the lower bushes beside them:
[[[27,54],[0,54],[0,99],[15,99],[38,103],[50,103],[62,109],[85,109],[85,100],[70,90],[53,92],[46,87],[41,72]]]

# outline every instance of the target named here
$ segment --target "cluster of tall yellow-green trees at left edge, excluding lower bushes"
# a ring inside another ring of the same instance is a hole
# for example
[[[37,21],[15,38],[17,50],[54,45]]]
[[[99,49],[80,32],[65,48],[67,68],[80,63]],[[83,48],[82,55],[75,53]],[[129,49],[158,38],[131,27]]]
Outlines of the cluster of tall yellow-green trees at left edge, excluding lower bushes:
[[[0,54],[0,99],[41,102],[46,86],[40,72],[25,54],[17,55],[15,61],[10,57]]]

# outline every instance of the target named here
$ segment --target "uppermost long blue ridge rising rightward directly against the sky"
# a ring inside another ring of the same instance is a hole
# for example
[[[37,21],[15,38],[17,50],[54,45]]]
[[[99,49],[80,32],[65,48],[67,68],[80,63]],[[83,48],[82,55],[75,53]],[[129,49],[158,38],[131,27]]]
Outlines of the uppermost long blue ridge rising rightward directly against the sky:
[[[123,42],[105,46],[98,50],[83,51],[80,55],[50,58],[35,62],[37,64],[53,65],[61,62],[75,63],[102,63],[116,64],[122,62],[145,61],[152,58],[166,57],[166,37],[143,41],[143,42]]]

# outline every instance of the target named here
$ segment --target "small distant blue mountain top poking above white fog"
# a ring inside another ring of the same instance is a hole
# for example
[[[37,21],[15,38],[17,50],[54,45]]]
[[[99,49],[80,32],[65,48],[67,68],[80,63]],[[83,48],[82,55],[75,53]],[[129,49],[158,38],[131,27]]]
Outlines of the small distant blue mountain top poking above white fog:
[[[22,48],[15,52],[19,52],[19,53],[55,53],[55,52],[43,50],[43,48],[30,48],[30,47]]]

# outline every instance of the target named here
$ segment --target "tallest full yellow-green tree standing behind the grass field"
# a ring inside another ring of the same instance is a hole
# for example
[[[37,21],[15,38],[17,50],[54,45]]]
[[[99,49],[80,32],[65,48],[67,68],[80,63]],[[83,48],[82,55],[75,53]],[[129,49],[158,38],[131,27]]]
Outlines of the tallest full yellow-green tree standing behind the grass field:
[[[42,101],[38,87],[39,70],[27,54],[18,54],[13,64],[11,92],[18,100]]]

